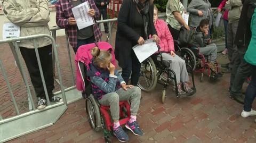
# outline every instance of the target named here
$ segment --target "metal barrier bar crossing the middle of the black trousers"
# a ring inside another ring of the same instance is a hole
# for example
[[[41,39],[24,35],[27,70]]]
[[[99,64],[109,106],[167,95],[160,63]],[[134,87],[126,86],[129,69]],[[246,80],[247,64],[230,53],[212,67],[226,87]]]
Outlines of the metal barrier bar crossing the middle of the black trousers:
[[[45,84],[45,79],[44,79],[44,73],[43,73],[43,69],[42,69],[42,64],[41,64],[41,61],[40,61],[39,52],[38,52],[38,48],[37,48],[37,45],[36,45],[36,39],[33,39],[33,41],[34,41],[34,48],[35,48],[35,52],[36,52],[36,59],[37,59],[37,63],[38,63],[40,75],[41,75],[42,82],[43,82],[45,97],[46,97],[46,100],[47,100],[47,105],[51,105],[50,100],[49,100],[48,91],[47,91],[46,84]]]

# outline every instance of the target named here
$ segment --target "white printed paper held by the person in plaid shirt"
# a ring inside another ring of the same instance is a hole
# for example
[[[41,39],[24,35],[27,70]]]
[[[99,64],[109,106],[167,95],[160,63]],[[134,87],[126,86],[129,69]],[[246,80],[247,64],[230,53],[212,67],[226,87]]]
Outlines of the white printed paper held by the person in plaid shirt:
[[[76,19],[76,24],[79,30],[94,24],[92,16],[88,14],[89,9],[88,1],[72,8],[72,12]]]

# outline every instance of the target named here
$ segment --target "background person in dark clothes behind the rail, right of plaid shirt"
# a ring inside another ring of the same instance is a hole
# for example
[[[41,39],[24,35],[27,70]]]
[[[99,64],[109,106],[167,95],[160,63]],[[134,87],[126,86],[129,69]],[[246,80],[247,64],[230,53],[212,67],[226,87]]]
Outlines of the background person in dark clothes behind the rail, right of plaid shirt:
[[[94,1],[100,11],[98,20],[101,19],[101,15],[103,20],[108,19],[107,5],[109,4],[109,0],[94,0]],[[104,29],[105,29],[105,33],[108,33],[108,23],[104,23]]]

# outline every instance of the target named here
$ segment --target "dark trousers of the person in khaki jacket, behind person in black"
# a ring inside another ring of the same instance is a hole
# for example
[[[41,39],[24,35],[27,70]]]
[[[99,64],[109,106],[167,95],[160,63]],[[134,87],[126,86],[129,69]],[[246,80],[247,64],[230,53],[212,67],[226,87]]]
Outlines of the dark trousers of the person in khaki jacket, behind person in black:
[[[238,27],[238,21],[233,23],[228,23],[227,29],[227,49],[228,49],[228,58],[230,61],[230,68],[233,68],[233,64],[238,60],[238,50],[237,46],[235,45],[235,37],[236,31]]]

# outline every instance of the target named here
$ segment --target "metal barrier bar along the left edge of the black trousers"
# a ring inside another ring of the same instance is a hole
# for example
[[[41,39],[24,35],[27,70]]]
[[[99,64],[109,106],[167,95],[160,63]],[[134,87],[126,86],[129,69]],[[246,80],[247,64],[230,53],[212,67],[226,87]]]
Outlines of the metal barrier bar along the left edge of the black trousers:
[[[29,96],[29,98],[30,98],[30,101],[31,101],[31,105],[32,105],[32,107],[33,107],[33,110],[35,110],[36,107],[35,107],[35,104],[34,104],[34,100],[33,100],[33,98],[32,98],[31,91],[30,91],[30,89],[29,89],[29,85],[28,85],[28,81],[27,81],[27,77],[26,77],[26,74],[25,74],[25,72],[24,72],[24,70],[23,70],[23,66],[22,66],[22,63],[21,63],[20,48],[19,48],[19,46],[18,46],[18,44],[17,44],[16,41],[14,41],[14,47],[15,47],[15,51],[16,51],[16,54],[17,54],[17,57],[18,57],[18,61],[17,61],[17,62],[18,62],[18,64],[20,65],[20,73],[21,73],[22,77],[24,78],[24,82],[25,82],[25,85],[26,85],[26,88],[27,88],[28,96]]]

